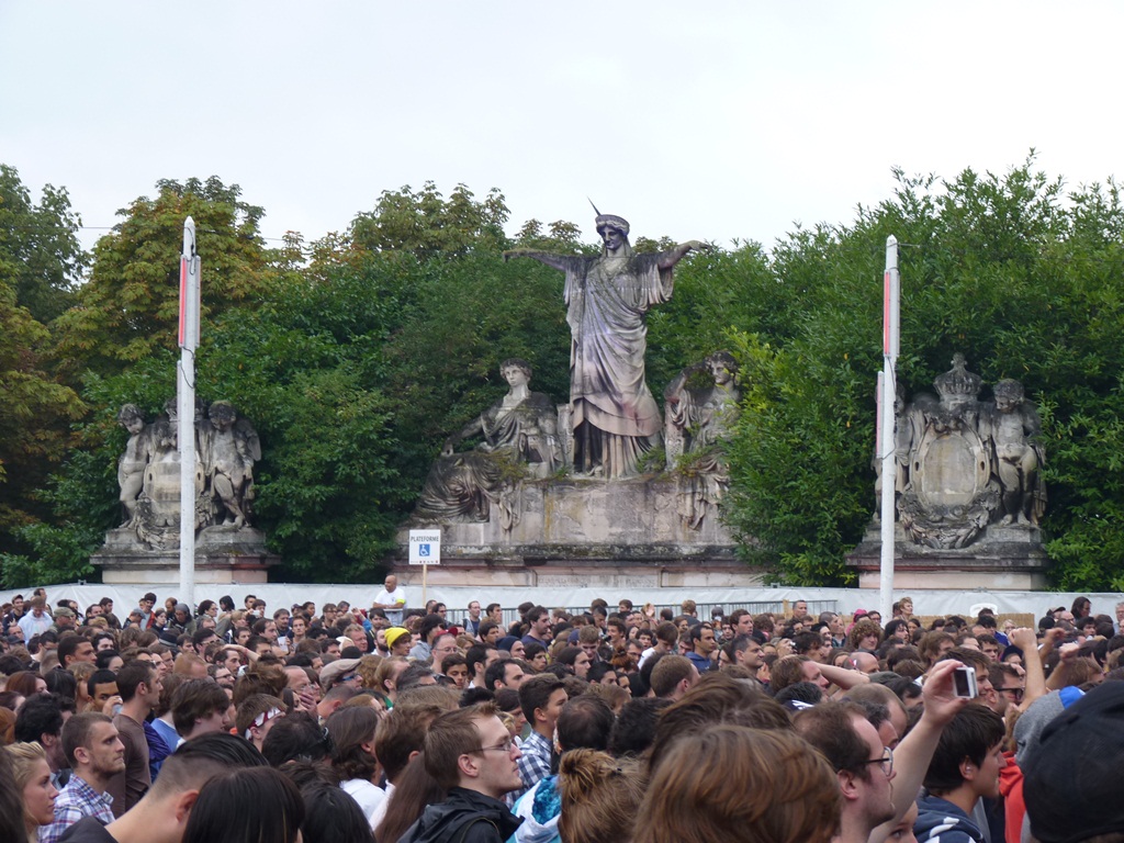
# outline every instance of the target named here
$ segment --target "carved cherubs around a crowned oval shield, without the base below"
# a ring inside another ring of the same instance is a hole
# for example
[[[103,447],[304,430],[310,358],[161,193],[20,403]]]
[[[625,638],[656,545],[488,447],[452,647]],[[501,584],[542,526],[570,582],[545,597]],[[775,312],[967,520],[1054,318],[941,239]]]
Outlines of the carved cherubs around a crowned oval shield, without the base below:
[[[982,380],[957,354],[934,386],[940,400],[917,396],[896,419],[897,450],[908,454],[896,483],[907,535],[928,547],[960,549],[992,524],[1036,524],[1044,454],[1037,411],[1022,384],[1000,381],[995,401],[980,401]]]

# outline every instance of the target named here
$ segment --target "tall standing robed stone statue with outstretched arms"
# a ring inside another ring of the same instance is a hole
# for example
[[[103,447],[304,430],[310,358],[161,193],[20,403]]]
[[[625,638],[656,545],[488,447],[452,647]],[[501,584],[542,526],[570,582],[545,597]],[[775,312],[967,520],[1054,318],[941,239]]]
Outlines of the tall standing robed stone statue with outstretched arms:
[[[659,443],[660,410],[644,381],[647,326],[653,305],[671,298],[672,269],[698,241],[659,254],[635,254],[628,223],[600,214],[597,257],[517,248],[565,272],[564,298],[571,332],[570,406],[578,473],[624,478],[638,473],[641,455]]]

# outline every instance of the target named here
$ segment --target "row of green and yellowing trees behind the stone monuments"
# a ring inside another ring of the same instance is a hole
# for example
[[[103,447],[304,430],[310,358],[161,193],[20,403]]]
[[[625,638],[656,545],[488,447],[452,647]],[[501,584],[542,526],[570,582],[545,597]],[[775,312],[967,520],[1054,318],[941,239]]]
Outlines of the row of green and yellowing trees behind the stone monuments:
[[[788,581],[847,582],[844,555],[874,509],[881,273],[894,234],[903,244],[899,381],[909,393],[928,390],[955,352],[988,383],[1023,381],[1044,422],[1054,581],[1124,589],[1116,185],[1067,191],[1033,158],[1003,174],[897,175],[894,194],[850,223],[798,228],[769,252],[738,243],[682,261],[674,298],[649,315],[653,392],[731,350],[744,400],[728,447],[728,523],[747,559]],[[427,183],[383,193],[343,235],[307,248],[292,235],[271,251],[257,236],[261,209],[237,188],[158,188],[99,244],[80,307],[53,324],[58,365],[81,374],[92,411],[64,470],[31,496],[54,517],[21,531],[31,550],[4,559],[9,583],[82,572],[118,515],[116,410],[133,401],[153,415],[174,388],[187,214],[203,257],[199,393],[232,400],[261,433],[257,523],[285,560],[283,577],[377,575],[441,442],[505,391],[500,361],[528,360],[533,388],[565,399],[562,278],[500,253],[516,244],[595,253],[572,224],[529,220],[509,242],[498,191],[477,200],[457,185],[446,199]],[[22,350],[45,334],[11,289],[0,298],[0,371],[25,371]],[[30,339],[9,344],[17,332]],[[22,416],[8,418],[4,438],[30,435]]]

